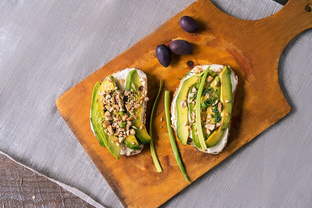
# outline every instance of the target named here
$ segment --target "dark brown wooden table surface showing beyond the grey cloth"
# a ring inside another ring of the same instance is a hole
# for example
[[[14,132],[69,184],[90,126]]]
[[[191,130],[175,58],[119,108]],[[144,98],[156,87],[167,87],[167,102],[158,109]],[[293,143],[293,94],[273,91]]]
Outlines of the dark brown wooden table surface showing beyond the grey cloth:
[[[286,4],[288,0],[276,0]],[[22,178],[22,184],[20,180]],[[0,207],[93,208],[59,185],[0,155]]]

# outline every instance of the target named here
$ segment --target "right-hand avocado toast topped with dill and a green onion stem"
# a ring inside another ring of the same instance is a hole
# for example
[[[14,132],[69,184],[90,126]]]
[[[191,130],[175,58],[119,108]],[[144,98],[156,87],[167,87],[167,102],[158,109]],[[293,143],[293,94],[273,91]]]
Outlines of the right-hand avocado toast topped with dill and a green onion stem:
[[[195,66],[181,80],[171,122],[181,143],[210,154],[226,146],[238,79],[229,66]]]

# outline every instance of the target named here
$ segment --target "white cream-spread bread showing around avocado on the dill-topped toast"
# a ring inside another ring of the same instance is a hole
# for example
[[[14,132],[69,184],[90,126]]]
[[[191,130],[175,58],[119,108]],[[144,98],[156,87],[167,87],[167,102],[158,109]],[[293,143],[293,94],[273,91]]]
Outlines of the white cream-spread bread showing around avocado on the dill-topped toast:
[[[210,66],[210,69],[213,70],[213,71],[218,71],[219,69],[218,68],[221,68],[223,69],[224,66],[223,65],[218,65],[218,64],[212,64],[212,65],[202,65],[202,66],[195,66],[190,72],[196,72],[196,70],[198,70],[198,68],[201,68],[201,70],[206,70],[206,68]],[[230,66],[228,66],[230,68]],[[230,68],[231,69],[231,68]],[[232,81],[232,85],[233,85],[233,82],[235,82],[235,88],[234,90],[232,90],[232,94],[233,94],[233,103],[234,103],[234,97],[235,97],[235,94],[236,94],[236,91],[237,91],[237,87],[238,87],[238,78],[237,76],[235,75],[234,71],[231,69],[231,72],[232,72],[232,77],[234,80],[231,79]],[[191,75],[193,75],[191,73]],[[185,79],[187,79],[189,76],[184,76],[183,79],[181,79],[180,81],[180,84],[178,86],[178,88],[176,88],[175,92],[174,92],[174,95],[173,95],[173,99],[172,99],[172,103],[171,103],[171,123],[172,123],[172,127],[174,129],[174,131],[176,132],[176,109],[175,109],[175,99],[176,99],[176,96],[179,92],[179,90],[181,89],[181,86],[184,82]],[[235,81],[236,80],[236,81]],[[234,87],[234,86],[233,86]],[[232,117],[232,115],[231,115]],[[211,147],[211,148],[208,148],[207,150],[203,151],[205,153],[208,153],[208,154],[219,154],[223,151],[223,149],[225,148],[226,144],[227,144],[227,141],[228,141],[228,138],[230,136],[230,126],[231,126],[231,118],[230,118],[230,123],[228,125],[228,130],[226,130],[224,132],[224,134],[227,134],[226,137],[222,137],[222,139],[219,141],[219,143],[214,146],[214,147]],[[193,140],[191,138],[188,138],[187,140],[187,144],[195,147],[196,149],[198,149],[194,144],[193,144]],[[198,149],[199,151],[202,151],[201,149]]]

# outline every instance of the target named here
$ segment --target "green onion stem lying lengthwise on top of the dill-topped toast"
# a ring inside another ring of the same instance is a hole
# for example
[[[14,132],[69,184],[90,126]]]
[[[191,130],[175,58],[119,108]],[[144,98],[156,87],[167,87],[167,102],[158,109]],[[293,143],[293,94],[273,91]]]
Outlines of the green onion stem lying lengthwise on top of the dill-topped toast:
[[[203,151],[207,150],[207,146],[204,140],[204,135],[202,133],[202,128],[201,128],[201,118],[200,118],[200,101],[201,101],[201,94],[202,94],[202,90],[204,88],[204,84],[206,81],[206,77],[208,74],[210,66],[208,66],[208,68],[206,69],[205,73],[203,74],[203,77],[201,78],[199,87],[198,87],[198,91],[197,91],[197,97],[196,97],[196,107],[195,107],[195,116],[196,116],[196,127],[197,127],[197,135],[198,135],[198,139],[200,142],[200,146],[202,148]]]

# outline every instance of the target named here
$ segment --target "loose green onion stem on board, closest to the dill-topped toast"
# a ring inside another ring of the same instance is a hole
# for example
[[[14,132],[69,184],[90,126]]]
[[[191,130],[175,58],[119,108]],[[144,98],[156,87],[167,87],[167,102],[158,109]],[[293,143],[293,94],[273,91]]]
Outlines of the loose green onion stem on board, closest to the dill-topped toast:
[[[169,134],[169,138],[170,138],[170,143],[171,143],[171,147],[173,150],[173,154],[175,157],[175,160],[185,178],[185,180],[187,182],[189,182],[185,169],[183,167],[182,161],[180,159],[180,155],[179,152],[177,150],[176,144],[175,144],[175,140],[174,140],[174,136],[173,136],[173,132],[172,132],[172,128],[171,128],[171,122],[170,122],[170,110],[169,110],[169,98],[170,98],[170,91],[165,91],[164,92],[164,112],[166,115],[166,123],[167,123],[167,129],[168,129],[168,134]]]

